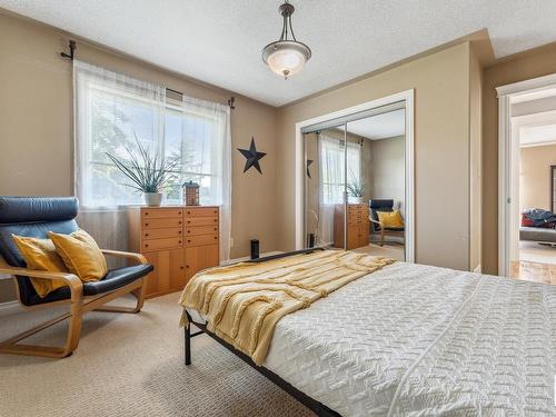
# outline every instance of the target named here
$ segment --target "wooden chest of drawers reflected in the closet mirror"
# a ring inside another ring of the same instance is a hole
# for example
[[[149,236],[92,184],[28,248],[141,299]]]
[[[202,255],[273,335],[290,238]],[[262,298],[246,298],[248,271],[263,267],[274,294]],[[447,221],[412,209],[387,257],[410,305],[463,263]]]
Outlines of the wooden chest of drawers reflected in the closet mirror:
[[[367,205],[347,205],[346,249],[369,245],[369,208]],[[344,205],[334,210],[334,246],[344,248]]]

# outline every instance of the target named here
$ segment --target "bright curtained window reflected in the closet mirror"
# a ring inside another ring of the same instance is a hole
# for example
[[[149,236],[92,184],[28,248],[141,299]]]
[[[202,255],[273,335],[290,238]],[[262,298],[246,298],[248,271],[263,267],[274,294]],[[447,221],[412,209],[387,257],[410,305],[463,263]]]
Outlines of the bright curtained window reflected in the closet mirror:
[[[335,205],[344,202],[345,191],[345,151],[344,139],[325,135],[319,136],[321,160],[321,196],[322,203]],[[347,143],[348,182],[360,182],[361,149],[359,143]]]

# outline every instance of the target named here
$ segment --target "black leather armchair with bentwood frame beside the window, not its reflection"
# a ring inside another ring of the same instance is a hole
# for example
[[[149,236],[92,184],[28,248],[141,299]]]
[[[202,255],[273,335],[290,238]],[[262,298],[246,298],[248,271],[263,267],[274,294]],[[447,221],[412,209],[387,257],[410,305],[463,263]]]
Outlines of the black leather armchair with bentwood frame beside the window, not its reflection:
[[[0,197],[0,274],[11,275],[18,298],[28,309],[41,306],[70,304],[70,312],[39,325],[18,336],[0,342],[0,353],[48,357],[66,357],[77,348],[85,312],[91,310],[139,312],[145,300],[145,281],[153,267],[142,255],[117,250],[102,250],[105,256],[127,258],[135,265],[111,269],[99,281],[81,282],[69,272],[49,272],[27,269],[11,235],[47,238],[48,231],[71,234],[78,229],[75,220],[78,200],[75,197]],[[37,295],[29,277],[62,279],[68,286],[56,289],[47,297]],[[137,298],[132,308],[102,307],[108,301],[131,292]],[[66,344],[62,347],[18,344],[36,332],[61,320],[69,319]]]

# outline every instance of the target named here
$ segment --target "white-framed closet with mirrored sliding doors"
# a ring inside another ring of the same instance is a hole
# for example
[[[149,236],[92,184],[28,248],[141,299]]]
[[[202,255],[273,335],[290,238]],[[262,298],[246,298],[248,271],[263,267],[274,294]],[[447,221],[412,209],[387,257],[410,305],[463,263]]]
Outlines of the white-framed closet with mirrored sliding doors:
[[[297,129],[302,171],[297,247],[414,261],[413,91]]]

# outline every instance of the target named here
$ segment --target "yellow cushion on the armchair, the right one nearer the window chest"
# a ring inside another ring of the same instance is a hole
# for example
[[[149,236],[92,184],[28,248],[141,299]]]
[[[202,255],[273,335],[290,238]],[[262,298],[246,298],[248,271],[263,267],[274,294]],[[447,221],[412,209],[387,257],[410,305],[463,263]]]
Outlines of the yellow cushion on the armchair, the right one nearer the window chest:
[[[105,256],[87,231],[79,229],[71,235],[49,231],[48,236],[69,271],[83,282],[98,281],[106,275],[108,268]]]

